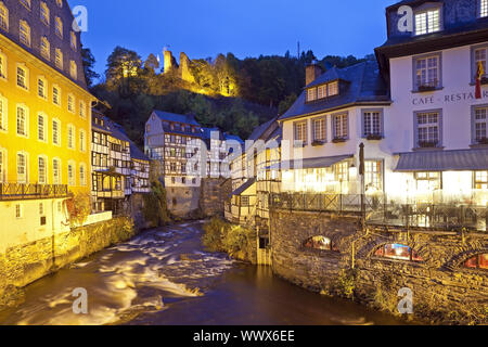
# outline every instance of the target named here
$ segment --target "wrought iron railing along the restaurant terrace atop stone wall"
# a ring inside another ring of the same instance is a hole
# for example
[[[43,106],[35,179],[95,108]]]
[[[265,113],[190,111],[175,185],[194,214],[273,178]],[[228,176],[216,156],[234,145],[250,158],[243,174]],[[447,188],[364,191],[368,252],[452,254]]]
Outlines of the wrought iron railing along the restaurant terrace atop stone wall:
[[[368,223],[438,230],[488,231],[487,206],[463,203],[400,203],[385,194],[277,193],[270,209],[319,211],[365,217]]]

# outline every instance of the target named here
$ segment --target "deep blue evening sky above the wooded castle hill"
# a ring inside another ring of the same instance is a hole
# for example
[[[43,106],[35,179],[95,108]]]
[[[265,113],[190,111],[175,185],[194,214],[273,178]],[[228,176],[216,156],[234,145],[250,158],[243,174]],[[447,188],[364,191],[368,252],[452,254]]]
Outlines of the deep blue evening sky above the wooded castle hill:
[[[142,59],[178,59],[232,52],[237,57],[283,55],[311,49],[316,56],[373,53],[386,39],[385,8],[394,0],[68,0],[88,9],[81,42],[97,59],[97,72],[116,46]]]

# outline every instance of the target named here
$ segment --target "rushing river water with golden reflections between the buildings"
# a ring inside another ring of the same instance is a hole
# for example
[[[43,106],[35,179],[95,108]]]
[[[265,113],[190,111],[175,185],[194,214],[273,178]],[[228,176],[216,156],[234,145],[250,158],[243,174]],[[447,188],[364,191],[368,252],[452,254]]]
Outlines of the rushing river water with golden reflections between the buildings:
[[[202,248],[202,221],[146,231],[26,287],[0,324],[401,324]],[[75,288],[88,314],[75,314]]]

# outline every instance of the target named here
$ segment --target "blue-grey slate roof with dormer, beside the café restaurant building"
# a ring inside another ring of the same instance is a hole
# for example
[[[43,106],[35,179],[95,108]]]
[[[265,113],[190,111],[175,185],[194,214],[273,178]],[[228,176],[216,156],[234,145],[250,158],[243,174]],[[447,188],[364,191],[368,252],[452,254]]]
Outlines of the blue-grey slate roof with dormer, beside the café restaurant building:
[[[383,80],[377,62],[370,60],[345,68],[332,68],[307,87],[337,78],[348,81],[338,95],[306,103],[306,90],[279,120],[329,112],[357,103],[390,103],[388,88]]]

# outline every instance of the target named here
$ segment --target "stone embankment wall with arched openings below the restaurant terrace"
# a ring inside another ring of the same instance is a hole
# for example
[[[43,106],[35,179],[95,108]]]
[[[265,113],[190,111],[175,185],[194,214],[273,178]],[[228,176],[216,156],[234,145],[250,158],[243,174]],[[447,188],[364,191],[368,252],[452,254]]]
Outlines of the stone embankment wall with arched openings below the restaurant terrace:
[[[338,252],[305,247],[313,236],[329,237]],[[362,230],[354,216],[274,210],[270,242],[273,271],[297,285],[391,313],[398,313],[398,292],[407,287],[413,294],[413,318],[488,323],[488,271],[464,267],[471,257],[488,253],[487,233]],[[422,261],[375,256],[378,247],[395,243],[410,246]]]

